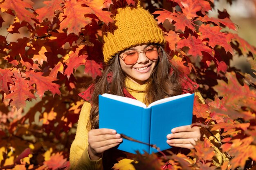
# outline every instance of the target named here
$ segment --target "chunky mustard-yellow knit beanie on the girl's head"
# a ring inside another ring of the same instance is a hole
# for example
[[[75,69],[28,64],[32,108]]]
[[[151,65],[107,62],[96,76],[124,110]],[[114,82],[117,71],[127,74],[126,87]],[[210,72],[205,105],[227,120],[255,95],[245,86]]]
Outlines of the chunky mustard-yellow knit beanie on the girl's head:
[[[164,45],[162,29],[153,16],[142,7],[117,9],[115,25],[108,27],[103,35],[104,62],[108,63],[116,54],[132,46],[156,43]]]

